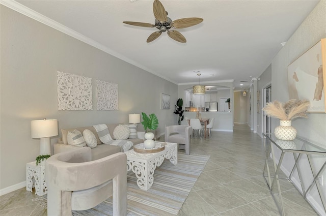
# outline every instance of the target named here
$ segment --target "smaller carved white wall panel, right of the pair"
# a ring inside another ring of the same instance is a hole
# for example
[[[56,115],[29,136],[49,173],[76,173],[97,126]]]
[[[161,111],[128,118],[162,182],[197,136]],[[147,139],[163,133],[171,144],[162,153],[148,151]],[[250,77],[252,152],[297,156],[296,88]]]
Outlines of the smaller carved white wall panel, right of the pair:
[[[118,110],[118,84],[96,80],[97,110]]]

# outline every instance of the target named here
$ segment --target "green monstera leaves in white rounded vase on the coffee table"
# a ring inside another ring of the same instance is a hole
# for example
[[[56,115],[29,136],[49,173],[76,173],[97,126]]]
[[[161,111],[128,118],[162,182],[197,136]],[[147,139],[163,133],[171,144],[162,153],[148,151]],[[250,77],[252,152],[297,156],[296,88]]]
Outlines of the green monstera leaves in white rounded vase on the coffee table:
[[[145,133],[145,141],[144,147],[145,148],[154,148],[155,141],[153,140],[154,134],[150,132],[151,130],[155,131],[158,128],[158,119],[154,113],[150,114],[149,116],[146,113],[142,112],[143,121],[142,125],[144,126]]]

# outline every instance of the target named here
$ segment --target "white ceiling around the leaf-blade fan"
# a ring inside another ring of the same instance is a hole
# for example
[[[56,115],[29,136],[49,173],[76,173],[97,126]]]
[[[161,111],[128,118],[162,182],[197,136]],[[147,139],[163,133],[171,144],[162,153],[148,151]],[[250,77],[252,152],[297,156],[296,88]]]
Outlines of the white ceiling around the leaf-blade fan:
[[[167,33],[151,43],[156,28],[122,21],[154,24],[153,1],[53,1],[18,3],[75,30],[106,47],[106,51],[176,84],[234,80],[248,88],[271,63],[295,29],[319,1],[177,1],[161,0],[172,19],[201,17],[198,25],[177,29],[187,39],[176,42]]]

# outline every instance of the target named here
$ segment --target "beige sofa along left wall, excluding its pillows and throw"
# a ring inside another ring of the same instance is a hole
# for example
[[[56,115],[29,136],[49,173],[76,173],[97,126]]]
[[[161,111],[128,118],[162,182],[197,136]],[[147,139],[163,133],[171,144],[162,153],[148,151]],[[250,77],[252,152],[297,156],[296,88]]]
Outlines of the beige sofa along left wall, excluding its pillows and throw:
[[[112,138],[114,138],[114,136],[113,136],[114,129],[118,125],[121,125],[121,124],[106,124],[108,131],[110,132],[110,135]],[[57,153],[64,152],[64,151],[70,151],[70,150],[82,148],[82,147],[75,146],[75,145],[69,145],[68,141],[67,141],[67,134],[69,131],[74,131],[74,130],[78,130],[80,133],[83,134],[83,131],[86,129],[92,131],[97,140],[97,146],[95,148],[91,149],[92,160],[104,158],[106,156],[113,155],[114,153],[117,153],[117,152],[123,152],[123,149],[119,146],[103,144],[101,142],[101,140],[99,139],[95,128],[93,126],[88,126],[88,127],[81,127],[81,128],[61,129],[62,138],[61,138],[61,140],[59,139],[58,143],[53,145],[54,153],[57,154]],[[127,140],[131,141],[133,143],[133,145],[143,143],[144,142],[144,133],[145,132],[137,132],[138,138],[127,139]]]

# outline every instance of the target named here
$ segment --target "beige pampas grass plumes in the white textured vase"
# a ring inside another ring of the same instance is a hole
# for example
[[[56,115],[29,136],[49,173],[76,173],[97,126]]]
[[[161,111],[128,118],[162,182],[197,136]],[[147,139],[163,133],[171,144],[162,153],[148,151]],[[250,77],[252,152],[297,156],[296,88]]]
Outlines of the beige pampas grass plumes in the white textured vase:
[[[266,107],[262,110],[266,112],[268,116],[276,117],[281,120],[292,120],[297,117],[307,118],[307,110],[310,102],[308,100],[296,100],[292,99],[283,104],[279,101],[273,101],[267,103]]]

